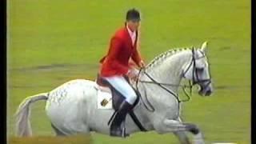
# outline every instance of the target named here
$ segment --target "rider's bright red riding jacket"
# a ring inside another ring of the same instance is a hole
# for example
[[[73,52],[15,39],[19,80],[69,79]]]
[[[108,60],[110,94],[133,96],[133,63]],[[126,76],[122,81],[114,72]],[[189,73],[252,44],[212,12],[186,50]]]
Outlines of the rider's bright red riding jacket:
[[[102,63],[100,75],[102,77],[126,74],[131,66],[130,58],[139,66],[142,58],[137,50],[137,39],[138,32],[136,31],[136,40],[133,46],[126,26],[116,31],[110,40],[108,53],[100,60]]]

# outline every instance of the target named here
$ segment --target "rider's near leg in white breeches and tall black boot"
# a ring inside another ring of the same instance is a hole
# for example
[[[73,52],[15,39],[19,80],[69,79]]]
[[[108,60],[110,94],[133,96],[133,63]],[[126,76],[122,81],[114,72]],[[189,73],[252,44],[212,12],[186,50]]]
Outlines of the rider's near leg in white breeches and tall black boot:
[[[130,112],[132,106],[137,98],[136,93],[130,87],[129,83],[122,76],[114,76],[105,78],[119,93],[121,93],[126,99],[119,106],[116,116],[110,126],[110,135],[112,136],[126,136],[122,132],[122,122],[126,118],[126,114]]]

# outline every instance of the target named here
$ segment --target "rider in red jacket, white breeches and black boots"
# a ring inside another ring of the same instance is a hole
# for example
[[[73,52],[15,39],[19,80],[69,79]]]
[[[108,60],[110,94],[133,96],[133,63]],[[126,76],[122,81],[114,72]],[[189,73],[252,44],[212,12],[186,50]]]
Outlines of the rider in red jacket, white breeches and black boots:
[[[124,122],[126,114],[132,110],[137,98],[134,89],[124,78],[125,75],[132,79],[138,78],[138,73],[135,72],[130,59],[139,67],[145,66],[137,50],[140,20],[138,10],[128,10],[125,26],[118,29],[112,36],[108,53],[100,60],[102,63],[99,72],[100,77],[109,82],[115,90],[118,90],[125,97],[110,125],[111,136],[122,137],[122,122]]]

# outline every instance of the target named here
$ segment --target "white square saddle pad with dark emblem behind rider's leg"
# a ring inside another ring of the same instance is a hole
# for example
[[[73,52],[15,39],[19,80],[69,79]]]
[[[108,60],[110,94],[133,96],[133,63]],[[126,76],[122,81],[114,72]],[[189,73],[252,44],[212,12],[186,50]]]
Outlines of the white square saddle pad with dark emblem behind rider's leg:
[[[98,89],[97,108],[98,109],[113,109],[111,92]]]

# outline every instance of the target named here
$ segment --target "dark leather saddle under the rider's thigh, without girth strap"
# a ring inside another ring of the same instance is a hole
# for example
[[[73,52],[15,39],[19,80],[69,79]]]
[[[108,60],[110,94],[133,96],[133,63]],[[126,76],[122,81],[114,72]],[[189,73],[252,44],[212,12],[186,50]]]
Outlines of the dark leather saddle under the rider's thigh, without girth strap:
[[[123,77],[130,84],[129,78],[126,75],[124,75]],[[114,110],[118,110],[118,108],[121,105],[122,101],[125,100],[125,97],[121,93],[119,93],[118,90],[116,90],[114,88],[114,86],[111,86],[111,84],[109,82],[107,82],[106,79],[102,78],[99,74],[97,76],[96,82],[97,82],[97,84],[99,86],[106,86],[106,87],[110,88],[111,93],[112,93],[112,105],[113,105],[113,108],[114,108]],[[134,89],[133,86],[131,86],[131,87]],[[134,89],[134,91],[135,91],[135,93],[137,95],[137,98],[136,98],[136,100],[134,102],[133,108],[134,108],[134,106],[136,106],[138,104],[139,96],[140,96],[138,90]]]

